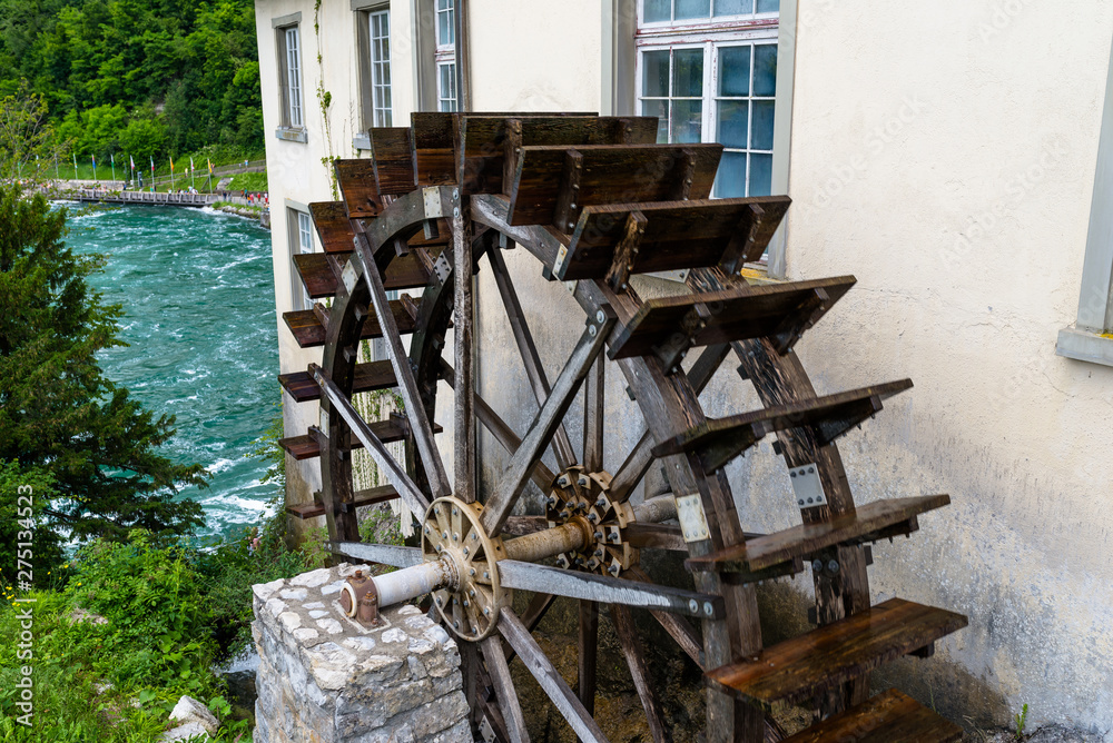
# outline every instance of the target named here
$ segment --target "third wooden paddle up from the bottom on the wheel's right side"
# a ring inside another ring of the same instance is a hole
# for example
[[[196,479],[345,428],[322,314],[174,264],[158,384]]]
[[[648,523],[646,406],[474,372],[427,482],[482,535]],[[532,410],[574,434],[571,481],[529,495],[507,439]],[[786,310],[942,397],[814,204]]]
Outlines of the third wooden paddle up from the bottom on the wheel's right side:
[[[784,532],[757,536],[747,539],[746,544],[691,557],[684,565],[693,571],[759,571],[836,544],[861,542],[871,534],[909,521],[912,531],[915,531],[916,516],[949,503],[949,495],[874,501],[829,522],[799,524]]]

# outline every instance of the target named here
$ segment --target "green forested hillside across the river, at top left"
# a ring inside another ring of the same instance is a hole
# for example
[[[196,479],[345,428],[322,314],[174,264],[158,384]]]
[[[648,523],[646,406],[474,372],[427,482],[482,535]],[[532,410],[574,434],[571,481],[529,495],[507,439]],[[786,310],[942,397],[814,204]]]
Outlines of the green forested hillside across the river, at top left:
[[[253,0],[0,0],[0,98],[24,80],[81,158],[263,149]]]

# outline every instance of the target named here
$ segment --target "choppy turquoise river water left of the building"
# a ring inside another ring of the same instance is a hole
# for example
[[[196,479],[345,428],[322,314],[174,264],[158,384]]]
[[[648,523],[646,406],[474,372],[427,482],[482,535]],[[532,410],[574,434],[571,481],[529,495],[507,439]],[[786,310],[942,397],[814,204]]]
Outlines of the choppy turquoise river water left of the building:
[[[258,521],[274,485],[246,457],[277,412],[278,339],[270,235],[242,217],[127,207],[71,218],[68,244],[108,256],[91,283],[124,305],[127,347],[104,351],[105,373],[156,414],[177,416],[162,447],[200,463],[209,487],[180,497],[204,506],[199,536]]]

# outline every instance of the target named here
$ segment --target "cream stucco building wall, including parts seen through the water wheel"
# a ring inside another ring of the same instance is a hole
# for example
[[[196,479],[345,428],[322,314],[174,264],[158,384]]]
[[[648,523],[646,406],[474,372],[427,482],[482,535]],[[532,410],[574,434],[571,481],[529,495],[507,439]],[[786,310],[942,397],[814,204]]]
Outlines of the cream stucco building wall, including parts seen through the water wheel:
[[[323,6],[332,153],[343,155],[356,120],[352,14],[347,3]],[[257,8],[272,202],[331,198],[313,128],[319,112],[311,111],[308,147],[273,137],[269,18],[302,8],[312,28],[312,4],[258,0]],[[408,8],[392,6],[396,32],[408,28],[401,18]],[[469,20],[473,109],[608,109],[591,0],[472,0]],[[787,32],[796,40],[788,278],[858,279],[797,349],[821,394],[903,377],[916,384],[843,439],[857,502],[953,498],[923,516],[912,539],[874,548],[874,600],[899,595],[971,617],[933,661],[900,662],[881,680],[953,719],[1007,723],[1026,703],[1030,725],[1106,731],[1113,567],[1103,515],[1113,481],[1113,369],[1054,349],[1077,306],[1113,3],[799,0]],[[307,59],[313,44],[305,36]],[[395,41],[396,123],[415,98],[412,78],[406,82],[413,62],[400,60],[407,49]],[[316,66],[305,70],[312,89]],[[276,210],[279,305],[289,301],[283,220]],[[512,251],[508,262],[554,377],[582,331],[579,309],[561,285],[541,280],[525,251]],[[477,286],[479,389],[523,432],[535,403],[485,262]],[[651,279],[637,288],[669,290]],[[279,337],[284,370],[304,368],[306,355],[282,324]],[[624,387],[611,371],[610,467],[643,425]],[[710,415],[758,405],[729,364],[702,400]],[[312,420],[316,406],[303,407]],[[287,432],[302,433],[309,420],[288,419]],[[580,432],[573,408],[577,448]],[[451,449],[447,436],[442,447]],[[485,484],[504,460],[484,437]],[[308,464],[312,479],[317,465]],[[747,529],[798,523],[784,463],[768,443],[728,474]],[[651,473],[648,487],[654,479]],[[794,588],[777,595],[802,611],[810,578]]]

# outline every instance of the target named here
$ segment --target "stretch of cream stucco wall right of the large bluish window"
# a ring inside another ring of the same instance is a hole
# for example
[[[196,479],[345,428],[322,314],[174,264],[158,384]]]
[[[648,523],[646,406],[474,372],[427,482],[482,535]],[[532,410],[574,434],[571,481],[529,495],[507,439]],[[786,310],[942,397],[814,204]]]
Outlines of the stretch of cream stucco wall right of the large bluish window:
[[[801,0],[797,39],[789,276],[858,278],[800,355],[820,392],[916,383],[841,447],[859,502],[954,499],[876,548],[875,595],[968,614],[944,655],[1030,723],[1107,731],[1113,369],[1055,339],[1113,3]]]

